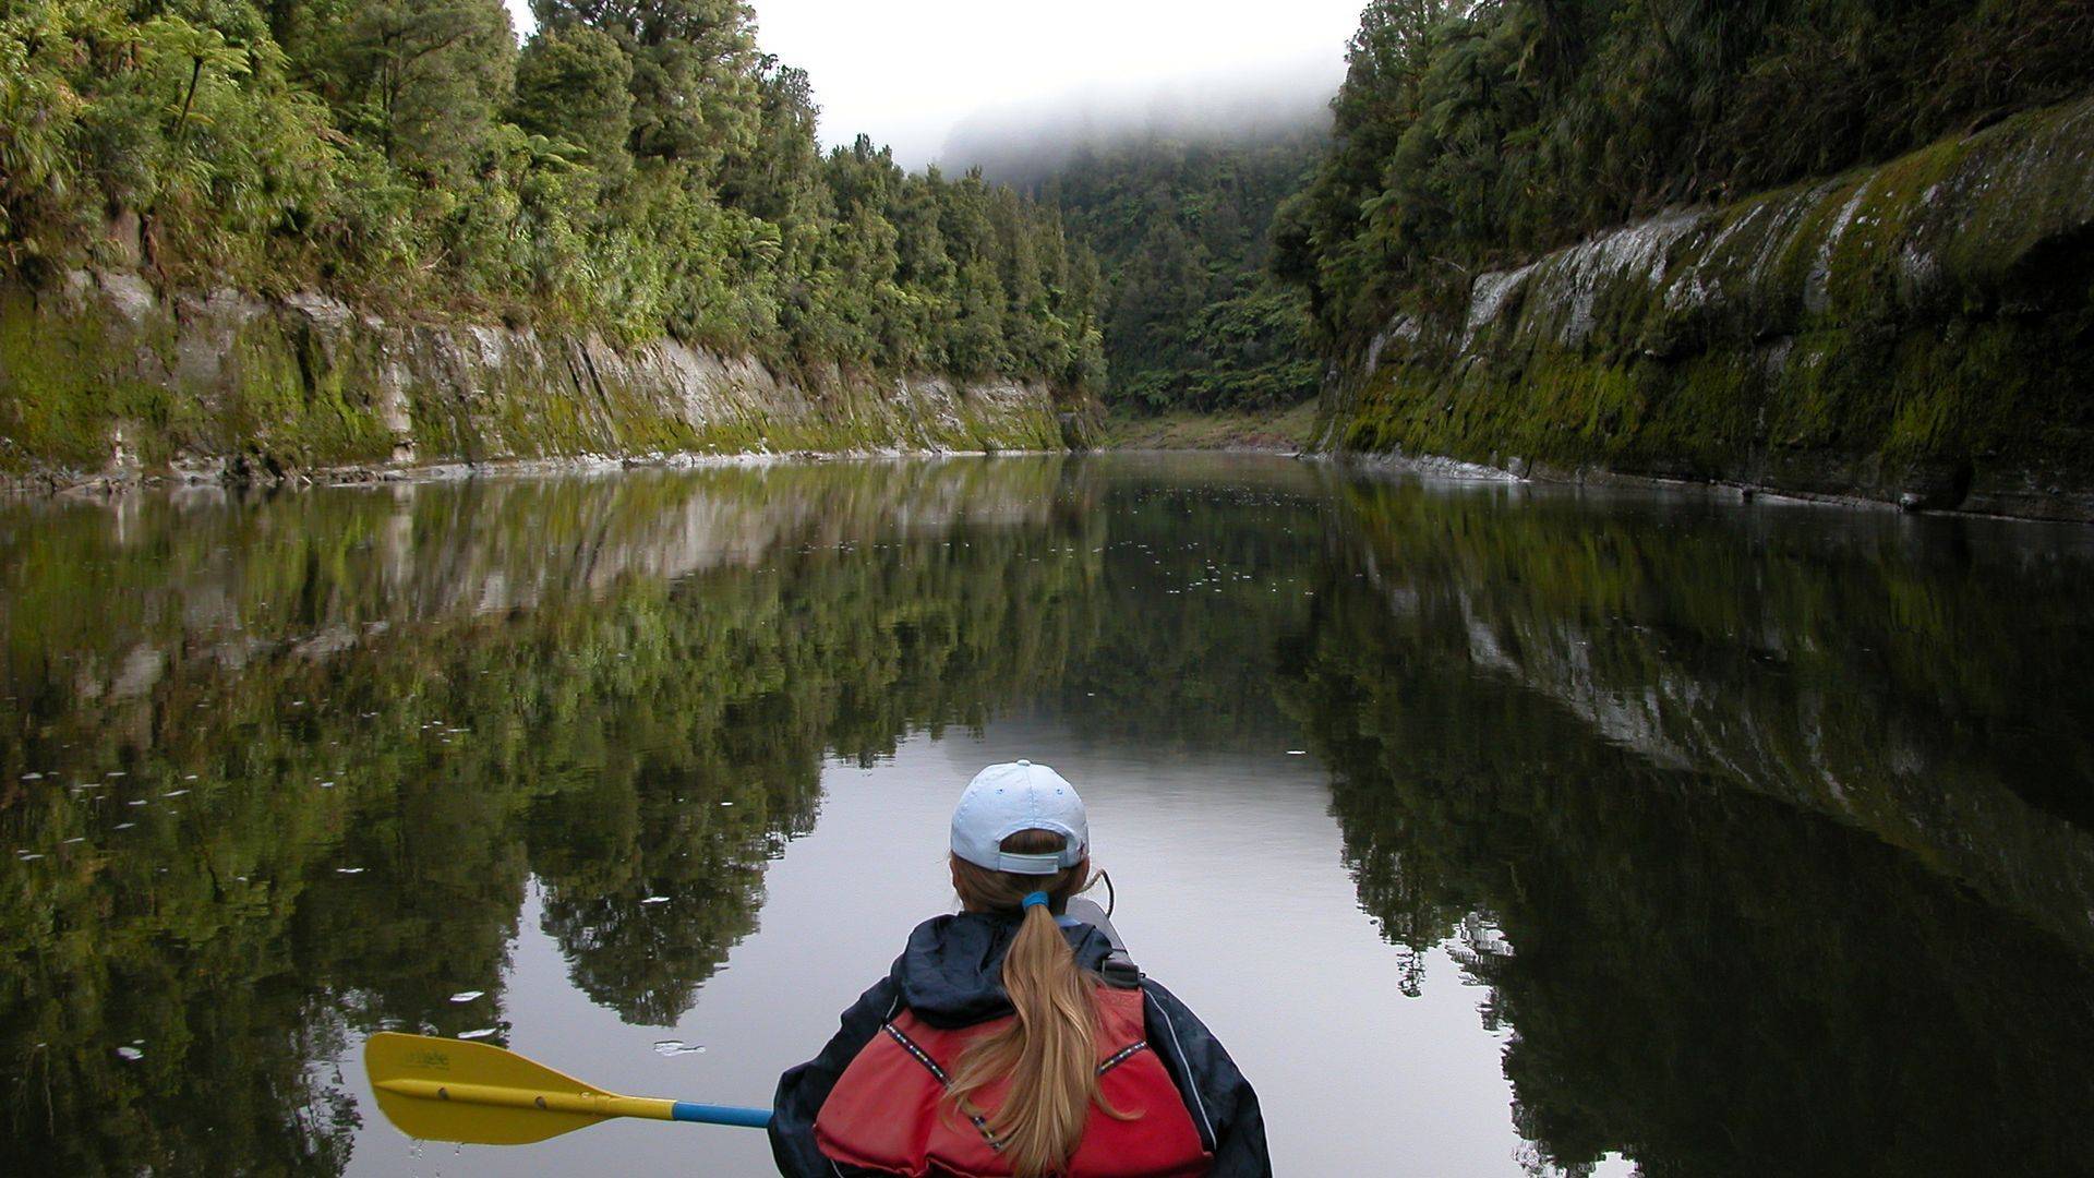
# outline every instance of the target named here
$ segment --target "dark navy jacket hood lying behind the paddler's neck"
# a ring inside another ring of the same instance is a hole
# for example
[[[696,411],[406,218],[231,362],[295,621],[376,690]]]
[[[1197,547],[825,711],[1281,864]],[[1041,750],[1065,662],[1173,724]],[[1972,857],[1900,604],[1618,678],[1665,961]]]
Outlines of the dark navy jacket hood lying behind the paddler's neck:
[[[917,924],[888,975],[903,1004],[932,1027],[972,1027],[1009,1015],[1003,954],[1018,937],[1018,920],[999,912],[961,912]],[[1089,924],[1062,924],[1062,937],[1081,968],[1095,970],[1112,954],[1106,935]]]

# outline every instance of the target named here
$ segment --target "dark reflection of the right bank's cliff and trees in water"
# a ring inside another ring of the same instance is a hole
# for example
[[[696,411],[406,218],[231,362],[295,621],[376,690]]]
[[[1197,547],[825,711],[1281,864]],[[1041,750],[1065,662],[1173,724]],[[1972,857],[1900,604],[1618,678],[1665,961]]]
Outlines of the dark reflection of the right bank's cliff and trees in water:
[[[1342,497],[1374,591],[1319,597],[1290,702],[1543,1161],[2094,1165],[2084,539]]]

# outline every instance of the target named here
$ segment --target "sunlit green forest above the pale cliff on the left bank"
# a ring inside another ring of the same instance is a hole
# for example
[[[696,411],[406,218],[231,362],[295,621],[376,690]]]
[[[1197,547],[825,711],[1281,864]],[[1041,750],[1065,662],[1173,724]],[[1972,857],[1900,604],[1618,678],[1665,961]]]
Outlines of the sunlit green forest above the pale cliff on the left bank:
[[[0,277],[325,289],[810,369],[1101,381],[1097,268],[978,174],[823,155],[737,0],[0,0]]]

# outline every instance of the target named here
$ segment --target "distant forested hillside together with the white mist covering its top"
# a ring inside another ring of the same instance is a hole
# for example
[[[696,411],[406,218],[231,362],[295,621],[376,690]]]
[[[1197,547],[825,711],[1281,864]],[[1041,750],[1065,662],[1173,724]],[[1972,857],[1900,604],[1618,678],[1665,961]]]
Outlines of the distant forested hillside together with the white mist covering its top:
[[[988,109],[944,163],[1062,212],[1104,270],[1106,400],[1124,411],[1271,409],[1315,396],[1307,298],[1267,270],[1271,224],[1328,147],[1321,65],[1256,80]]]

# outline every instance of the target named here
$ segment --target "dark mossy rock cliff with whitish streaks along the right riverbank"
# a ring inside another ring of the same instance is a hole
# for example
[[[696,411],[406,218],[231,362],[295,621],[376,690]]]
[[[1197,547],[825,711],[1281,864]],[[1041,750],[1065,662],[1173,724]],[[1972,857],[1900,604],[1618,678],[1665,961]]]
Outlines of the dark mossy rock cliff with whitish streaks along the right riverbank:
[[[2094,520],[2094,99],[1478,275],[1321,444]]]

